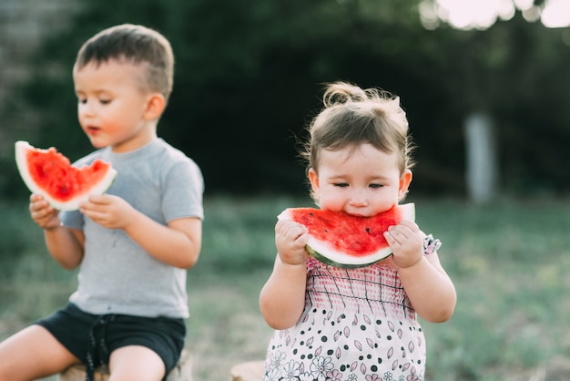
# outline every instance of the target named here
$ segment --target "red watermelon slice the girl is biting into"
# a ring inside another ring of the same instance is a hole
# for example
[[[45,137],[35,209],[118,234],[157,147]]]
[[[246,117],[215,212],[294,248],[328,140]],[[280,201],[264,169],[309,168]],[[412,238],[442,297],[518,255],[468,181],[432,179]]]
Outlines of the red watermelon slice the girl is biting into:
[[[310,256],[334,267],[350,269],[368,266],[392,254],[383,233],[404,219],[414,221],[415,205],[396,205],[373,217],[289,208],[282,211],[278,219],[297,221],[309,229],[307,252]]]

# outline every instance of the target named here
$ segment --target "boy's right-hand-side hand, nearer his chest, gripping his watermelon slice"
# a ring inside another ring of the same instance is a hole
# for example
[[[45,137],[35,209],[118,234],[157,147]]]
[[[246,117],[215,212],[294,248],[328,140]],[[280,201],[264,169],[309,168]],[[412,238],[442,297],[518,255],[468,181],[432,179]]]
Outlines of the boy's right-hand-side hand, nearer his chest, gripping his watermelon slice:
[[[104,228],[125,229],[135,209],[118,196],[103,194],[90,196],[79,205],[79,211]]]

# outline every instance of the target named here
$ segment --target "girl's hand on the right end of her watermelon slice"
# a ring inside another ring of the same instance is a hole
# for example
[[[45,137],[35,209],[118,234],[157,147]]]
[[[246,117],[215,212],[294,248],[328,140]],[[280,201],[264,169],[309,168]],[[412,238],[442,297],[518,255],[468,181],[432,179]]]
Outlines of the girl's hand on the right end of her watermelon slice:
[[[384,232],[392,248],[392,259],[398,267],[412,267],[423,257],[423,233],[415,222],[403,220]]]

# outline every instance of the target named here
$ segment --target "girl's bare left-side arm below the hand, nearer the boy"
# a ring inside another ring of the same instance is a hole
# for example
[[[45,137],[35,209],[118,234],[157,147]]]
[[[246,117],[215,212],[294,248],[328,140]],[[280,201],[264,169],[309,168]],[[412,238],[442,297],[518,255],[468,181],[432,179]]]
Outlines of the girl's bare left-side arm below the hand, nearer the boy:
[[[295,325],[305,307],[307,266],[283,263],[277,255],[270,279],[260,293],[260,311],[274,329]]]

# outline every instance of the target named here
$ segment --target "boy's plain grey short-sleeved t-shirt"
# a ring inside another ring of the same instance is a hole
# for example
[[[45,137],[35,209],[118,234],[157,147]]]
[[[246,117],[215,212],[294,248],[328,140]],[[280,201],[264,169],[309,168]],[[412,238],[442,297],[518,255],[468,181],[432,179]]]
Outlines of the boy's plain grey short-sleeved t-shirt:
[[[78,160],[100,158],[117,170],[107,194],[117,195],[160,224],[203,219],[204,180],[198,165],[163,139],[132,152],[99,149]],[[83,230],[85,256],[69,301],[89,314],[188,317],[185,269],[161,263],[125,232],[103,228],[79,211],[62,211],[65,226]]]

